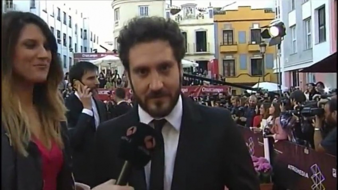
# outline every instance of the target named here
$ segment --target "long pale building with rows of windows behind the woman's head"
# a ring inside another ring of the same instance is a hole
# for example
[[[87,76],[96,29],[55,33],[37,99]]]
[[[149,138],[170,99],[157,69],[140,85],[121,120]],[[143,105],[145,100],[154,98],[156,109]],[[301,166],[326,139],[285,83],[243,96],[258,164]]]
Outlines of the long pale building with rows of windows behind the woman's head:
[[[74,63],[73,53],[102,50],[89,18],[74,7],[53,0],[2,0],[2,12],[12,10],[32,12],[48,24],[57,40],[64,72]]]

